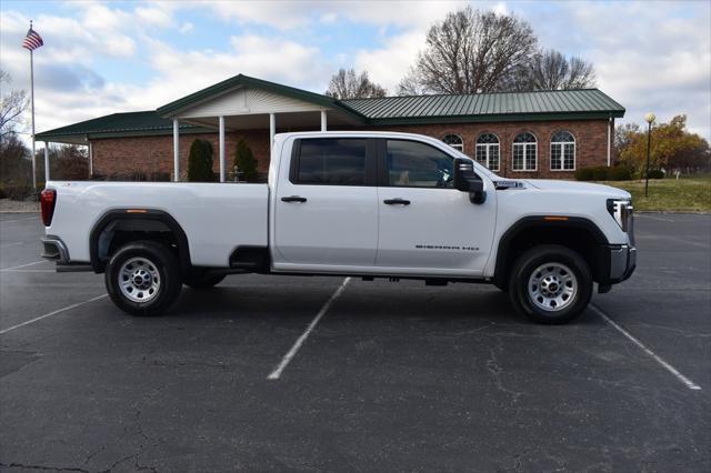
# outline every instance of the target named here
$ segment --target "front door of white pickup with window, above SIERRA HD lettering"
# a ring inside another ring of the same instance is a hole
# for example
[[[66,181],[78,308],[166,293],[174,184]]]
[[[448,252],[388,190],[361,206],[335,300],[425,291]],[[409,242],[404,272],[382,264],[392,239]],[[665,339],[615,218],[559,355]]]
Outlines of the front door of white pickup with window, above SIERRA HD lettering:
[[[477,275],[491,251],[495,195],[483,204],[453,189],[453,157],[434,145],[385,140],[380,149],[378,266]]]

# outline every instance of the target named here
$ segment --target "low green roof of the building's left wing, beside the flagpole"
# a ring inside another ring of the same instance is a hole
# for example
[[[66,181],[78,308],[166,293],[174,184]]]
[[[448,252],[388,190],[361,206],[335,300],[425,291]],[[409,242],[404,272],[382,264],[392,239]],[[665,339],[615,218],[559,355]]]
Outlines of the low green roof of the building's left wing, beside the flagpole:
[[[110,115],[73,123],[54,130],[37,133],[38,141],[63,140],[79,142],[84,138],[137,137],[150,134],[170,134],[173,130],[172,120],[160,117],[153,110],[142,112],[112,113]],[[213,131],[180,122],[181,133],[202,133]]]

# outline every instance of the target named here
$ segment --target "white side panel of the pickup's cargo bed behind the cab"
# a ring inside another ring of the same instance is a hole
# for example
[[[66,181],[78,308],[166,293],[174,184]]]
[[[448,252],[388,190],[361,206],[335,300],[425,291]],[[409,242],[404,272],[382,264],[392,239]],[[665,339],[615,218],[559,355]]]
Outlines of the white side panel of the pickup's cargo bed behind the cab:
[[[268,245],[267,184],[191,182],[48,182],[57,207],[47,234],[59,234],[74,262],[89,262],[89,234],[113,209],[169,213],[190,235],[194,265],[228,266],[238,245]]]

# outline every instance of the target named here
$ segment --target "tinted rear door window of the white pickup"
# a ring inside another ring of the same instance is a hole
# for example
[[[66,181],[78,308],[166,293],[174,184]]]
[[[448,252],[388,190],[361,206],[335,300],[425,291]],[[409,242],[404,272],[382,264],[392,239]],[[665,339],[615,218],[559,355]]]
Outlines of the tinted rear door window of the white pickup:
[[[301,140],[296,184],[365,185],[368,142],[359,138]]]

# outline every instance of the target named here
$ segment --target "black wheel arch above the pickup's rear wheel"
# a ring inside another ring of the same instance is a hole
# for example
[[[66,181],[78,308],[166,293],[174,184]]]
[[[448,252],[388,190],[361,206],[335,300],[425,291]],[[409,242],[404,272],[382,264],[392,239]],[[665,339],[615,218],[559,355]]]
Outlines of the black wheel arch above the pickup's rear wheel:
[[[170,213],[157,209],[112,209],[101,215],[89,235],[89,255],[94,272],[104,271],[112,232],[122,227],[138,232],[169,232],[174,238],[182,272],[187,273],[192,266],[188,236]]]

